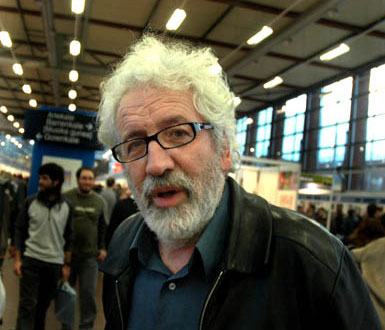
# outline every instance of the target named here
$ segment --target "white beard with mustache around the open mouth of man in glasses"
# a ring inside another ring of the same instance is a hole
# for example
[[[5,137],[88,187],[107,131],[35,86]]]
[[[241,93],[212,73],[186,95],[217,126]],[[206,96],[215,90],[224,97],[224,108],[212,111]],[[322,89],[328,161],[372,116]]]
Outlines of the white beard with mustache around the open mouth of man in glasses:
[[[148,176],[141,185],[141,193],[128,177],[129,188],[145,222],[165,245],[181,248],[195,242],[218,207],[225,184],[220,157],[216,155],[199,173],[194,178],[175,171]],[[155,206],[151,197],[154,189],[170,185],[184,189],[188,200],[176,207]]]

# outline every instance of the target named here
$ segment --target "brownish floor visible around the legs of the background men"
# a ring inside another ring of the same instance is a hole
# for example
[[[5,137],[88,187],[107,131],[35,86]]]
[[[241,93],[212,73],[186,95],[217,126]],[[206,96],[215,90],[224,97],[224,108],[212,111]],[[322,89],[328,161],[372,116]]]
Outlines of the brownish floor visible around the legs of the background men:
[[[0,330],[13,330],[16,329],[17,306],[19,300],[19,279],[13,273],[13,259],[9,259],[8,257],[6,257],[6,259],[4,260],[3,283],[6,290],[6,306],[3,315],[3,324],[0,325]],[[101,297],[102,274],[99,273],[97,288],[98,314],[96,316],[94,330],[103,330],[105,325]],[[76,319],[78,319],[78,314],[79,313],[77,309]],[[61,326],[55,319],[55,315],[53,312],[53,304],[51,304],[47,313],[46,330],[60,329]]]

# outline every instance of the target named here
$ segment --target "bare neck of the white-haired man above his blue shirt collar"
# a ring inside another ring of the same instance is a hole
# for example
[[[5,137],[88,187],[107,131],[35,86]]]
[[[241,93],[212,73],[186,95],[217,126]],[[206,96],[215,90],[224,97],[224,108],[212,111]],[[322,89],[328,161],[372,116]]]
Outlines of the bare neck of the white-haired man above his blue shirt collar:
[[[195,248],[195,243],[184,247],[174,247],[172,245],[158,243],[160,258],[163,264],[176,274],[189,262]]]

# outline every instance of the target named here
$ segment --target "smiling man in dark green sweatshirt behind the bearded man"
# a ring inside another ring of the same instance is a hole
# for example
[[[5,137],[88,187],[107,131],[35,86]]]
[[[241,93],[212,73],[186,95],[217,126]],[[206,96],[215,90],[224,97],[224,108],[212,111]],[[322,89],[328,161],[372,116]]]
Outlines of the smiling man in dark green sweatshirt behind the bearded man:
[[[104,200],[92,190],[95,185],[93,169],[78,169],[76,178],[78,187],[64,194],[74,208],[75,239],[69,282],[75,286],[79,278],[79,329],[92,329],[97,312],[97,262],[106,256],[106,210]]]

